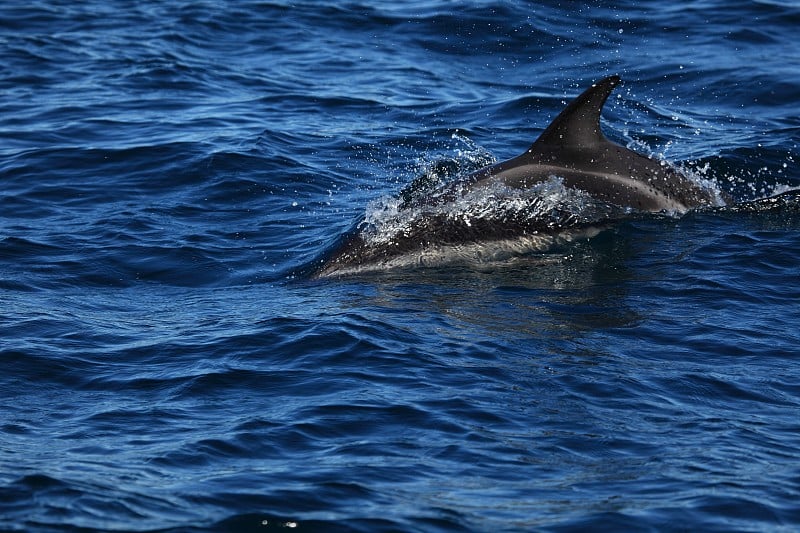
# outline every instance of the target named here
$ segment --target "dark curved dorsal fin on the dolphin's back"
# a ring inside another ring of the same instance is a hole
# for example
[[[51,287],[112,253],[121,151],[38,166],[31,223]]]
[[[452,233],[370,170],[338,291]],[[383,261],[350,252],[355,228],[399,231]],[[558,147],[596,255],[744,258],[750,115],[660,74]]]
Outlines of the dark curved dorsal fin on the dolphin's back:
[[[611,91],[622,82],[608,76],[570,102],[528,149],[528,154],[552,154],[562,150],[586,150],[609,142],[600,131],[600,113]]]

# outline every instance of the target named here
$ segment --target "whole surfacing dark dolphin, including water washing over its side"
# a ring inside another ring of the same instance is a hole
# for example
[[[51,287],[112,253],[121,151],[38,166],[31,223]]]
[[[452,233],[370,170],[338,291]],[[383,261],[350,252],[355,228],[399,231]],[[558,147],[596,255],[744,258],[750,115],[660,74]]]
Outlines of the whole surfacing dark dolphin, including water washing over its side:
[[[424,180],[401,193],[402,203],[382,211],[386,218],[378,217],[380,224],[373,220],[354,226],[330,250],[316,275],[429,266],[465,257],[491,260],[543,250],[574,235],[590,235],[597,227],[627,216],[629,209],[684,212],[713,204],[710,191],[669,165],[603,135],[600,114],[620,83],[619,77],[610,76],[584,91],[525,153],[513,159],[444,184],[422,176]],[[576,205],[575,191],[564,187],[546,196],[535,188],[533,194],[493,188],[504,185],[524,192],[554,177],[598,202],[579,195]]]

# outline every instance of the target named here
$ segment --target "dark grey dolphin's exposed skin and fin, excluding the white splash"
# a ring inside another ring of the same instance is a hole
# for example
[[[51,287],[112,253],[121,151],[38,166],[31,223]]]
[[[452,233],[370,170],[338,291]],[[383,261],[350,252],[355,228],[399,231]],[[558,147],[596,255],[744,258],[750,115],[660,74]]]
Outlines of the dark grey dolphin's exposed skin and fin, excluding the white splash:
[[[607,139],[600,128],[603,105],[622,80],[608,76],[575,98],[521,155],[446,184],[431,194],[417,194],[401,209],[432,209],[492,187],[532,190],[554,177],[564,187],[629,211],[684,213],[717,205],[717,194],[699,186],[665,162],[650,159]],[[426,264],[443,247],[464,252],[468,244],[514,237],[538,242],[552,224],[507,219],[455,225],[434,210],[391,239],[376,241],[358,224],[321,261],[317,277],[380,270],[399,264]],[[480,223],[482,222],[482,223]],[[563,229],[559,227],[558,229]],[[529,243],[530,244],[530,243]],[[464,253],[474,253],[471,252]],[[404,260],[399,258],[405,257]]]

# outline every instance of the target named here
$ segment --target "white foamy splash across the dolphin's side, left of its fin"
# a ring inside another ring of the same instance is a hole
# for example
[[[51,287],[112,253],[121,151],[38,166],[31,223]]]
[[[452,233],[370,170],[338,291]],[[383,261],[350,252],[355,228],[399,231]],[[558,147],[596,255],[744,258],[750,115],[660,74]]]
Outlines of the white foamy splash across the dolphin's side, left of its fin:
[[[464,161],[436,160],[430,164],[430,171],[400,195],[384,196],[368,204],[358,226],[365,245],[414,249],[420,254],[415,261],[426,264],[435,262],[435,257],[452,260],[454,254],[460,260],[469,255],[493,260],[498,255],[543,250],[552,245],[554,236],[563,238],[570,230],[607,223],[630,213],[628,208],[565,186],[558,176],[527,189],[501,181],[468,187],[460,181],[462,174],[453,169],[482,166],[486,158]],[[445,195],[443,201],[424,201]]]

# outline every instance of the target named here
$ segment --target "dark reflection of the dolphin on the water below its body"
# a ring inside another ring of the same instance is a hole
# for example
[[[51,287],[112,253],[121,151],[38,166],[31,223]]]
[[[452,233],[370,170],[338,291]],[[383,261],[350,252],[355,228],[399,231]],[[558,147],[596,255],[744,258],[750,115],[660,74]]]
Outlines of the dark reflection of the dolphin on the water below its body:
[[[346,305],[352,308],[394,310],[421,320],[444,316],[451,325],[491,334],[563,338],[641,320],[626,301],[635,276],[628,264],[633,253],[630,236],[613,229],[481,269],[404,270],[338,283],[372,287],[351,293]]]

